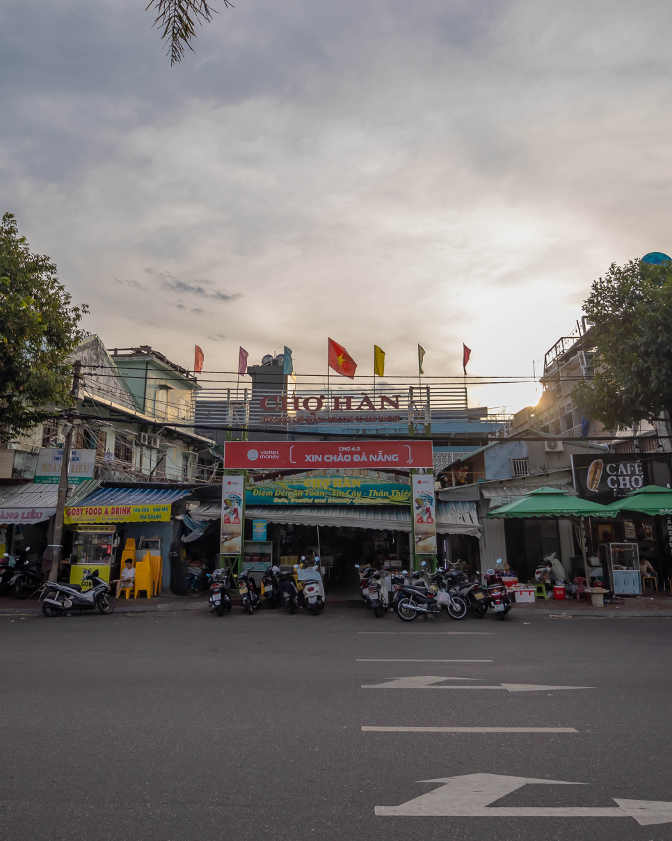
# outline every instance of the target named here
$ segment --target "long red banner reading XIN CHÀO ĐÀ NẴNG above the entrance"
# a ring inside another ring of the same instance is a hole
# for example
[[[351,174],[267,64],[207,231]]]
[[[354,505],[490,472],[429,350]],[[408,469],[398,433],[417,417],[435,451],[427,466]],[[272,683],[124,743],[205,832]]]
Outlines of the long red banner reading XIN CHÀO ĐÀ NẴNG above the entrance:
[[[224,467],[234,470],[433,468],[431,441],[229,441]]]

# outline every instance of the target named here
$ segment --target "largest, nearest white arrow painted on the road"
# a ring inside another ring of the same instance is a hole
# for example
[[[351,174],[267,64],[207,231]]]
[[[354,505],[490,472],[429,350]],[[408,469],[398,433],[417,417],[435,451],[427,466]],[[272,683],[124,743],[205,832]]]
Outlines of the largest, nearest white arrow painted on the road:
[[[634,817],[641,826],[672,823],[672,803],[648,800],[621,800],[617,807],[490,807],[501,797],[533,783],[537,785],[584,785],[564,780],[535,780],[498,774],[467,774],[420,780],[423,783],[444,783],[402,803],[401,806],[376,806],[375,814],[406,817]]]

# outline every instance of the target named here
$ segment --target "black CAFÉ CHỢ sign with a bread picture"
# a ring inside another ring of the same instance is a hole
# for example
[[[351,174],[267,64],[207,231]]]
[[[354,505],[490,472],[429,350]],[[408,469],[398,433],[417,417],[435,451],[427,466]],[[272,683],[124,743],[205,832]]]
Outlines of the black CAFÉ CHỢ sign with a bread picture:
[[[642,452],[605,452],[600,455],[572,455],[575,488],[582,500],[601,505],[622,499],[649,484],[667,484],[666,458]],[[662,472],[662,478],[660,474]]]

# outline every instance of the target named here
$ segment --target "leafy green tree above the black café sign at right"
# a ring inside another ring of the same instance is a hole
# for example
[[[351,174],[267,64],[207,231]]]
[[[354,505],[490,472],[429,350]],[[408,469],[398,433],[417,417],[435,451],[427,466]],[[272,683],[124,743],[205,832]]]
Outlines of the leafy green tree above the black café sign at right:
[[[581,414],[616,430],[672,413],[672,266],[612,263],[583,309],[597,353],[573,392]]]

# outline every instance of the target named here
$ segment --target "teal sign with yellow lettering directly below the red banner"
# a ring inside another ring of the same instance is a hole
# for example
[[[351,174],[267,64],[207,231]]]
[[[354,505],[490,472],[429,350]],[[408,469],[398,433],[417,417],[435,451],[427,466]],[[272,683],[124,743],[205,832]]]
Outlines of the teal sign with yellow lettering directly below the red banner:
[[[410,505],[411,486],[368,476],[307,476],[248,484],[247,505]]]

